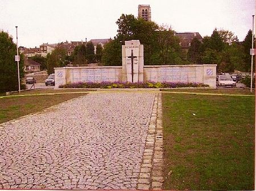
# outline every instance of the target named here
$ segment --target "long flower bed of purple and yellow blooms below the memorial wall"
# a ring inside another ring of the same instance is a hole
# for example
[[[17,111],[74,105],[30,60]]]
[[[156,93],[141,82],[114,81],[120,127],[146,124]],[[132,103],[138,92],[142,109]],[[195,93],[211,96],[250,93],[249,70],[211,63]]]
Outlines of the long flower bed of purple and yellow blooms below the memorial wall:
[[[202,83],[184,83],[184,82],[75,82],[72,84],[60,85],[59,88],[183,88],[183,87],[209,87]]]

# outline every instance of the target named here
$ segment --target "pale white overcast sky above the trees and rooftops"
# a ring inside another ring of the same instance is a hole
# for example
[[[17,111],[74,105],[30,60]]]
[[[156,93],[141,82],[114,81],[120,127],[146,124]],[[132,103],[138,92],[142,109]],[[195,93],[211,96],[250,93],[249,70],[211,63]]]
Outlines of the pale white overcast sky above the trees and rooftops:
[[[253,27],[255,0],[0,0],[0,30],[27,48],[43,43],[114,38],[121,14],[138,16],[150,5],[152,21],[177,32],[229,30],[245,39]]]

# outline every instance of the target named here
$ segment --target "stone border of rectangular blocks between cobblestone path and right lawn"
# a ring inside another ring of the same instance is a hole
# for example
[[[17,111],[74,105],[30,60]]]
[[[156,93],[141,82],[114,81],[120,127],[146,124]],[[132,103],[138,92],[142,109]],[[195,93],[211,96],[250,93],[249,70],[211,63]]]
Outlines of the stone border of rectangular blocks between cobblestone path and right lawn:
[[[162,94],[154,99],[137,189],[161,190],[163,186]]]

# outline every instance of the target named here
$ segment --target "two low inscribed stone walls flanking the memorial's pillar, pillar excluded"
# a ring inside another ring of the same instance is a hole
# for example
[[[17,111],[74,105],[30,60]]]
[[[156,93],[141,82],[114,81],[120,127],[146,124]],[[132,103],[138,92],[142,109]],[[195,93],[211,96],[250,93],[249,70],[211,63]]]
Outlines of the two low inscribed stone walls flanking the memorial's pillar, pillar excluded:
[[[198,82],[216,88],[216,66],[215,64],[148,65],[143,67],[143,81]],[[122,70],[121,66],[55,68],[56,88],[73,82],[127,81],[123,80]]]

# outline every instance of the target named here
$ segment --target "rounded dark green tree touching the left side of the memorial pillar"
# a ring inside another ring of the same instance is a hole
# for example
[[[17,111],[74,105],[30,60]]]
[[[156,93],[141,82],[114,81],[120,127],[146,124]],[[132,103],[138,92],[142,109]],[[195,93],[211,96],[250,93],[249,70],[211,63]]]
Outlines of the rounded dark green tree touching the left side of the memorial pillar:
[[[105,44],[102,62],[104,65],[122,65],[122,43],[118,39],[111,40]]]

